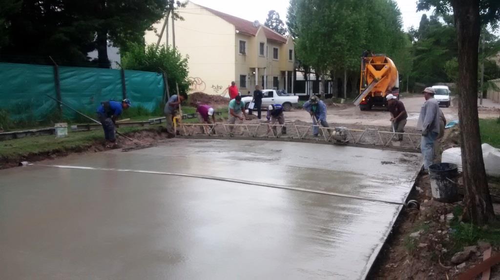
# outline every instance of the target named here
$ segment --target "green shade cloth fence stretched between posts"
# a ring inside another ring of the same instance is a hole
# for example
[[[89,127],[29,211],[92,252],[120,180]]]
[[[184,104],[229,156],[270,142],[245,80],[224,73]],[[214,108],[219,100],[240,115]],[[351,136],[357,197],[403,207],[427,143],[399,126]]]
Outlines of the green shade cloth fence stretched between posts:
[[[100,68],[58,67],[61,101],[94,114],[100,102],[123,98],[121,70]],[[124,71],[126,97],[132,105],[152,112],[162,101],[165,91],[160,73]],[[9,118],[43,121],[56,114],[57,98],[53,66],[0,63],[0,109]],[[72,119],[75,113],[61,107],[63,117]]]

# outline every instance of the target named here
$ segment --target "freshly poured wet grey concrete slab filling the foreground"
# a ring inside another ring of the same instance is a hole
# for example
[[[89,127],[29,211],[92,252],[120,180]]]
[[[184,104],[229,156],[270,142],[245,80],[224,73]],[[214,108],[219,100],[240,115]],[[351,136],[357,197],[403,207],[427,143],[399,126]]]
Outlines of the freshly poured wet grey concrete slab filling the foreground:
[[[363,279],[419,161],[172,140],[0,170],[0,279]]]

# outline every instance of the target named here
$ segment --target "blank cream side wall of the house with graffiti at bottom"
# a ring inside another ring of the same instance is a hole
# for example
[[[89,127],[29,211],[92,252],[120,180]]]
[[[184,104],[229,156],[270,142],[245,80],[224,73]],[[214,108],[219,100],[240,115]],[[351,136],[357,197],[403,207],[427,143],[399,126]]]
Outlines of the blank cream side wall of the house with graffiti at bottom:
[[[193,82],[190,93],[223,94],[234,79],[234,26],[190,1],[180,14],[184,20],[175,21],[175,44],[181,54],[189,56],[189,79]],[[163,20],[154,25],[158,33],[162,25]],[[171,19],[168,28],[168,42],[172,44]],[[147,31],[144,38],[146,44],[158,39],[153,31]],[[165,41],[163,38],[161,43]]]

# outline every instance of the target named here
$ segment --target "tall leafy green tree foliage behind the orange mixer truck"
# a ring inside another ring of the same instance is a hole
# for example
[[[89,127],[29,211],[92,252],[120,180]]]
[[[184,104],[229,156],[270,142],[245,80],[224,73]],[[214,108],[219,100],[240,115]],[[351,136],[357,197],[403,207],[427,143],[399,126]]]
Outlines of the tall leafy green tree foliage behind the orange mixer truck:
[[[394,58],[396,66],[408,57],[409,38],[392,0],[290,0],[287,24],[298,60],[319,75],[349,71],[359,76],[366,49]],[[406,63],[405,71],[410,66]]]

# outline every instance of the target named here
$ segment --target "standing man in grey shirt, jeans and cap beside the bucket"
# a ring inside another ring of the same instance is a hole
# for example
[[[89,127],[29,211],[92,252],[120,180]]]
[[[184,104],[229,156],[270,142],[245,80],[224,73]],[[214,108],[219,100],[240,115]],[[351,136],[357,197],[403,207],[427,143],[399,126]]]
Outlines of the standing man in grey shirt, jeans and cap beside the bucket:
[[[423,156],[424,172],[428,172],[429,165],[434,161],[434,141],[439,135],[439,103],[434,99],[433,88],[425,88],[423,91],[425,103],[420,109],[420,116],[416,125],[417,130],[422,132],[420,149]]]

